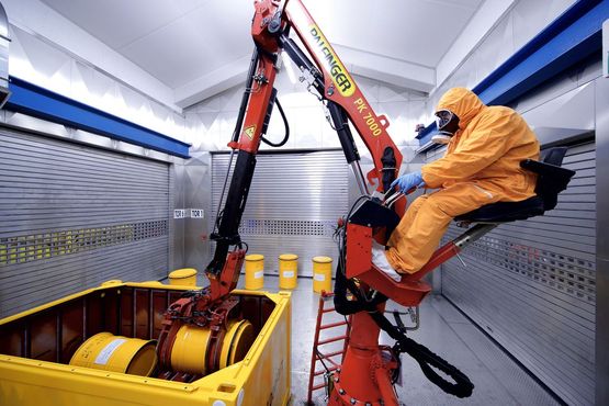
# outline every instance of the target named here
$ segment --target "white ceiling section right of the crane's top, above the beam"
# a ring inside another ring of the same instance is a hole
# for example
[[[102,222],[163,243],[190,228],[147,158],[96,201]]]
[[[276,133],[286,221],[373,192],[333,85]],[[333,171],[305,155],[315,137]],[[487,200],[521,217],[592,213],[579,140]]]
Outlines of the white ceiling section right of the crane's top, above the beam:
[[[335,44],[436,67],[482,0],[305,0]]]

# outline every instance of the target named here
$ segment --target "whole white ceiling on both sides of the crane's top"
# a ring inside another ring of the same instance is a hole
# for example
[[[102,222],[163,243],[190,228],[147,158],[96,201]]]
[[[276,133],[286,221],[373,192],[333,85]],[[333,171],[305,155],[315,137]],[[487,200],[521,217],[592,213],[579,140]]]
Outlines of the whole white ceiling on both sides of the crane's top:
[[[252,0],[42,1],[173,89],[178,104],[222,91],[248,67]],[[429,91],[485,0],[302,1],[356,74]]]

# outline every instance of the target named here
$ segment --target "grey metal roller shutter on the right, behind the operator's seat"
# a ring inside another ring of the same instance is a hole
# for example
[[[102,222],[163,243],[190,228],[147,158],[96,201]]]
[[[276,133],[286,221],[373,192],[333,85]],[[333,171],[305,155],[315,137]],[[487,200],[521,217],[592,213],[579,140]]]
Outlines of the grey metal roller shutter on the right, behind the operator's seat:
[[[555,210],[504,224],[442,266],[442,293],[573,405],[594,404],[595,145],[573,146],[577,171]],[[451,226],[447,237],[463,232]]]

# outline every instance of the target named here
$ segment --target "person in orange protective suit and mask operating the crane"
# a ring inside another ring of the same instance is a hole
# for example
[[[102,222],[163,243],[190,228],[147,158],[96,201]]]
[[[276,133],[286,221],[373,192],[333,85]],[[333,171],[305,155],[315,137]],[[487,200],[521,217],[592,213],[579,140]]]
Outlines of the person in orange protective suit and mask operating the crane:
[[[537,177],[521,169],[520,161],[539,159],[539,142],[517,112],[487,106],[470,90],[454,88],[442,95],[435,114],[447,154],[392,187],[402,192],[424,185],[439,190],[416,199],[387,247],[374,243],[372,249],[372,263],[397,281],[429,260],[455,216],[534,195]]]

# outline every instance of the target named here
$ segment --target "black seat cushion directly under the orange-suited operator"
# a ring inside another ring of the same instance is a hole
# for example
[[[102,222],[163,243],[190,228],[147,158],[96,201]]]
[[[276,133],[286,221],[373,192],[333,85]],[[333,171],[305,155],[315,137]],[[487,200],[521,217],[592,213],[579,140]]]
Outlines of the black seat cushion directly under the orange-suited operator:
[[[521,202],[497,202],[455,217],[458,222],[504,223],[543,214],[543,200],[535,195]]]

